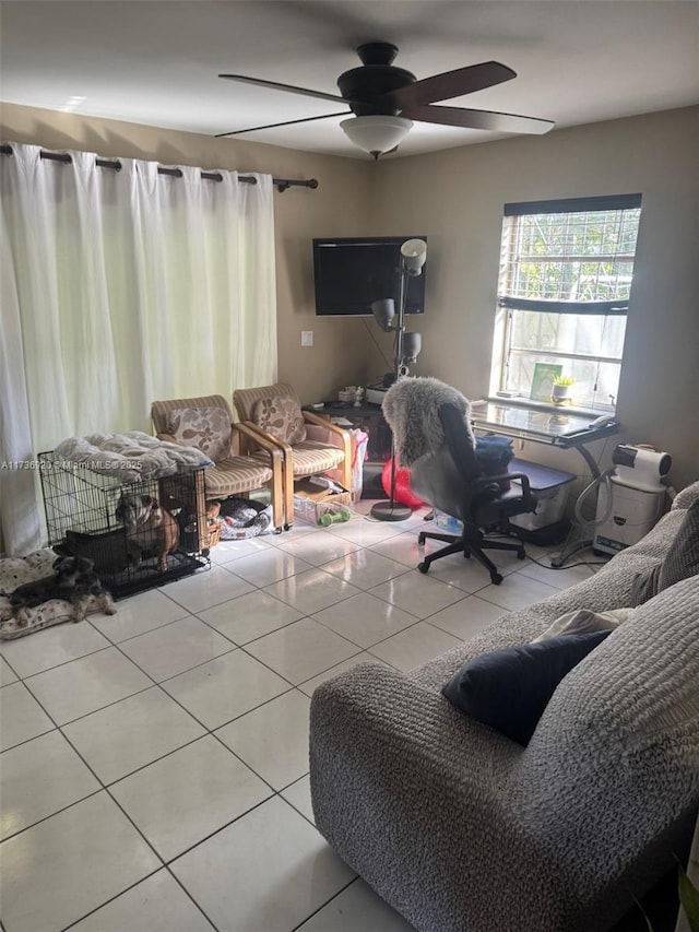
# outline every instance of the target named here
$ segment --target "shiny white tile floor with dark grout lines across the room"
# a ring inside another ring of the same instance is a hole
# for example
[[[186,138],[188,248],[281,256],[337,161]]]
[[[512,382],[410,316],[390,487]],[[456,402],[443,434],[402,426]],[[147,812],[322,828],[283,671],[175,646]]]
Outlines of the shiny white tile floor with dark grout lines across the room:
[[[424,576],[424,511],[370,505],[0,646],[3,932],[410,932],[313,827],[311,693],[365,660],[410,670],[593,570],[502,555],[496,587],[452,556]]]

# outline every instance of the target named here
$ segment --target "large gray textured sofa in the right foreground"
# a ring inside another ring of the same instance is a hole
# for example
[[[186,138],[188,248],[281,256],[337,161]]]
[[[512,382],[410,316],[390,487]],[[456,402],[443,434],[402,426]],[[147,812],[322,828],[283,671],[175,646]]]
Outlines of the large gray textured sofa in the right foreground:
[[[440,688],[469,658],[530,641],[572,609],[629,604],[696,497],[699,483],[594,577],[424,666],[365,663],[313,693],[316,824],[420,932],[609,929],[686,846],[699,805],[699,577],[637,607],[576,666],[526,747]]]

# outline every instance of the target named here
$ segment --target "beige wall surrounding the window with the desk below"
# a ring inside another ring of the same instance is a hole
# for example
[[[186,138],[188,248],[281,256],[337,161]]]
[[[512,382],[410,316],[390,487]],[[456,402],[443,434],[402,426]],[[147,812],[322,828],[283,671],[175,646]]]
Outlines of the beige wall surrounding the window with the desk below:
[[[428,236],[426,314],[408,320],[423,333],[414,373],[487,392],[502,204],[641,192],[617,414],[625,439],[672,453],[677,486],[699,479],[697,152],[694,107],[379,163],[375,227],[392,232],[379,226],[389,216]],[[580,472],[576,453],[545,452],[528,445],[523,456]]]

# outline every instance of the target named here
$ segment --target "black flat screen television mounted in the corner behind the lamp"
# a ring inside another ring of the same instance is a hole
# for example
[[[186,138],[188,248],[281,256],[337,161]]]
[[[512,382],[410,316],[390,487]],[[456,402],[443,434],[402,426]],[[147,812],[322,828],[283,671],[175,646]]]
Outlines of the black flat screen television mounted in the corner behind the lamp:
[[[371,302],[400,292],[401,246],[426,236],[380,236],[313,239],[316,314],[368,315]],[[425,312],[425,270],[407,278],[405,314]]]

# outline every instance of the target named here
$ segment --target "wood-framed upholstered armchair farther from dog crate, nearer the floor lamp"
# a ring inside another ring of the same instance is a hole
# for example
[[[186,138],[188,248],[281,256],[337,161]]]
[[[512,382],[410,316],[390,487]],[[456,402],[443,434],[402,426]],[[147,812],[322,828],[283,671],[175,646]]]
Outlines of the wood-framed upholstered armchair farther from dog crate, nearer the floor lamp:
[[[294,520],[294,482],[305,475],[341,469],[340,482],[352,484],[352,444],[346,430],[301,411],[291,385],[280,382],[233,393],[238,417],[257,440],[273,443],[284,453],[284,507],[286,527]],[[249,434],[247,435],[249,439]]]

